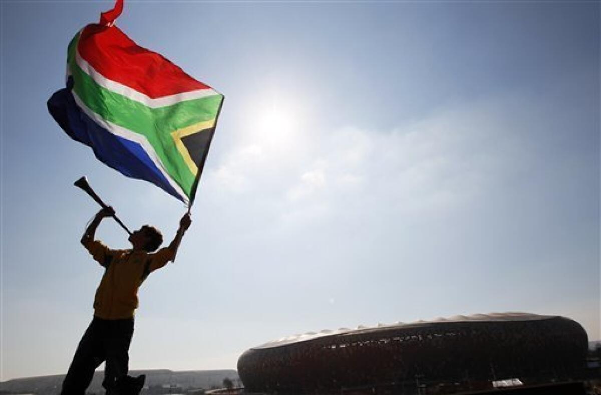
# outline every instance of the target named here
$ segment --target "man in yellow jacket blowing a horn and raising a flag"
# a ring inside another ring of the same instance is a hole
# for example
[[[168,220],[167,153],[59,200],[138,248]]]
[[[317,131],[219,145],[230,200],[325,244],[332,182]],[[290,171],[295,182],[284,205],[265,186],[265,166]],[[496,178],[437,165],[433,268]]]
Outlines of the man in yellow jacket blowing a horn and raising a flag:
[[[160,231],[144,225],[129,236],[130,250],[111,250],[94,240],[102,219],[115,215],[112,207],[100,210],[84,232],[81,243],[105,274],[94,298],[94,317],[79,342],[69,372],[63,381],[63,395],[84,395],[103,361],[107,394],[116,394],[118,382],[127,378],[129,344],[133,334],[133,314],[138,307],[138,288],[151,272],[174,260],[177,246],[192,223],[189,213],[180,219],[180,227],[171,244],[153,253],[163,242]],[[120,384],[121,385],[121,384]],[[124,391],[121,391],[122,393]]]

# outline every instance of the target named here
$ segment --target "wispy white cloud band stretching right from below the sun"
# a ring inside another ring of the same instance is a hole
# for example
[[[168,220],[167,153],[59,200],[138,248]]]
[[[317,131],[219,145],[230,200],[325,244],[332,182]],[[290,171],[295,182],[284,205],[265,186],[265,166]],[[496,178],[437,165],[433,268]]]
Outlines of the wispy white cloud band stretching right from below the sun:
[[[500,158],[517,145],[514,134],[502,130],[503,110],[484,103],[391,130],[288,131],[278,144],[251,130],[205,182],[228,194],[269,200],[282,219],[359,207],[438,215],[469,204],[491,172],[510,171],[501,169]]]

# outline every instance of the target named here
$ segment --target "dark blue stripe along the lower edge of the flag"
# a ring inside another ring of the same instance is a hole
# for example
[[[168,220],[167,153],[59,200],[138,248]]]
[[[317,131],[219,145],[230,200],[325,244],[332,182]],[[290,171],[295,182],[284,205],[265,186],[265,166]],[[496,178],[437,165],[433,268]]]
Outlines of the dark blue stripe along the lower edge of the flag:
[[[69,88],[56,91],[48,100],[52,117],[76,141],[88,145],[96,158],[124,176],[147,180],[169,194],[185,201],[154,165],[137,142],[109,132],[79,108]]]

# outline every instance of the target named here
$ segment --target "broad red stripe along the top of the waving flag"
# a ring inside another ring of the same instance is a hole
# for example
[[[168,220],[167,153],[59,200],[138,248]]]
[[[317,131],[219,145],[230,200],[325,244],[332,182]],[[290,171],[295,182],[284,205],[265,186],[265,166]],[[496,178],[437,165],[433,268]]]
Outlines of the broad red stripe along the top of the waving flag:
[[[79,37],[78,52],[105,78],[153,99],[211,88],[162,55],[138,46],[117,26],[96,23],[85,26]]]

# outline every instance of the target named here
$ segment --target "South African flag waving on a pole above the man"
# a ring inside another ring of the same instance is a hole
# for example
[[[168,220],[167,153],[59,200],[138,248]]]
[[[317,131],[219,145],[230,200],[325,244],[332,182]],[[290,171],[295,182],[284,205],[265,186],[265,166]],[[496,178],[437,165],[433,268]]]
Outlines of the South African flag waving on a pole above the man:
[[[50,97],[48,109],[100,161],[190,204],[223,100],[111,21],[73,37],[67,88]]]

